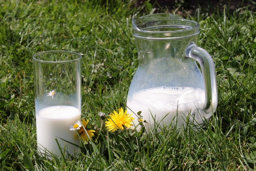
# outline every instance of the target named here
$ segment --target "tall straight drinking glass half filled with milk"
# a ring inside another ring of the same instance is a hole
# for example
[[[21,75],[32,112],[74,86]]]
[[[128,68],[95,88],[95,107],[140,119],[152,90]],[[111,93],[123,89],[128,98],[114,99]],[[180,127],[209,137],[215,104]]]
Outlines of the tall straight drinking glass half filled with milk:
[[[81,54],[45,51],[33,55],[36,135],[41,156],[79,153],[80,145],[69,126],[81,119]],[[66,140],[63,141],[62,139]],[[66,157],[65,156],[65,157]]]

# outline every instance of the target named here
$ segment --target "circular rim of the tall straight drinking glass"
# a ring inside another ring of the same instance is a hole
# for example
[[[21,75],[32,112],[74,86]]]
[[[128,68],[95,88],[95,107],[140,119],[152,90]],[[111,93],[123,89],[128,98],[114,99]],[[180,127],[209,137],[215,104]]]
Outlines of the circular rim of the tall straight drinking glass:
[[[54,53],[75,54],[75,55],[78,55],[78,58],[73,59],[73,60],[63,60],[63,61],[39,60],[36,58],[37,56],[40,56],[42,54],[54,54]],[[77,52],[74,52],[74,51],[42,51],[42,52],[39,52],[39,53],[36,53],[33,55],[33,60],[35,60],[36,62],[40,62],[40,63],[71,63],[71,62],[81,60],[81,58],[82,58],[82,55]]]

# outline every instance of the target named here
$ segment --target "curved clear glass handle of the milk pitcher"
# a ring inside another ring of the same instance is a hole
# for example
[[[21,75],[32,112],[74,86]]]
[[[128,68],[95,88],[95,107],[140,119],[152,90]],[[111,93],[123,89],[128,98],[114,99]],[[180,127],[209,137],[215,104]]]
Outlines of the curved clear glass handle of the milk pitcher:
[[[197,108],[193,111],[193,116],[195,120],[201,120],[204,117],[208,119],[215,112],[218,103],[214,62],[211,55],[203,48],[199,48],[194,42],[190,43],[185,54],[200,64],[205,87],[205,105],[203,108]]]

